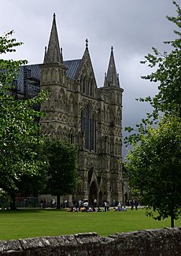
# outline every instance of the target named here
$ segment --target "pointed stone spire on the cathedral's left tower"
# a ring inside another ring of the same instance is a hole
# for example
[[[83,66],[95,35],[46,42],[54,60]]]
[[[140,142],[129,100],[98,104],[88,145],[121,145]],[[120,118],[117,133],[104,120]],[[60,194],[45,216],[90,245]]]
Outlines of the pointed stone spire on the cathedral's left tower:
[[[63,64],[62,51],[60,50],[58,35],[57,35],[57,25],[54,13],[53,24],[50,32],[50,40],[46,53],[46,58],[44,63],[61,63]]]

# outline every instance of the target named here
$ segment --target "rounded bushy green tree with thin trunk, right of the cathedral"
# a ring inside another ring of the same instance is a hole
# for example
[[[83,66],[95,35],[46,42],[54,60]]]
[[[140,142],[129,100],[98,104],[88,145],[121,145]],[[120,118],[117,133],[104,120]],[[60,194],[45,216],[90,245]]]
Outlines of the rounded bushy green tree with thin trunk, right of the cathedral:
[[[170,116],[148,128],[127,154],[126,170],[137,197],[157,210],[157,220],[170,216],[173,227],[181,213],[181,119]]]

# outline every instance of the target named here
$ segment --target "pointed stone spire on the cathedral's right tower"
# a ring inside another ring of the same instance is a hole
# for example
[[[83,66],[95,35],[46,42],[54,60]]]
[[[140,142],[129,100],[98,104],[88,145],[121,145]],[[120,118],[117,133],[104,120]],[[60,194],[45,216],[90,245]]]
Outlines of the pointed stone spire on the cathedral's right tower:
[[[120,87],[119,76],[116,74],[116,65],[113,55],[113,46],[111,46],[111,54],[109,58],[109,66],[107,76],[105,76],[104,87]]]

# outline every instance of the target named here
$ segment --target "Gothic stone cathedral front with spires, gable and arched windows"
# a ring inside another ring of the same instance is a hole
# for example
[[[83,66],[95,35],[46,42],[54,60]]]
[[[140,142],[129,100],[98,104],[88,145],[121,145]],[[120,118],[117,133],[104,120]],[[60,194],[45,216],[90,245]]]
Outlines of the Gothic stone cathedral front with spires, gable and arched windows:
[[[40,65],[40,87],[50,91],[42,103],[42,132],[78,145],[80,182],[74,200],[101,204],[124,201],[121,165],[122,93],[111,48],[103,87],[98,87],[88,41],[83,57],[64,61],[54,15],[50,41]]]

